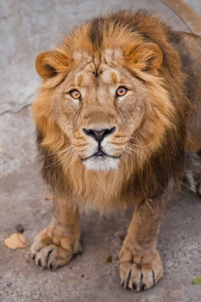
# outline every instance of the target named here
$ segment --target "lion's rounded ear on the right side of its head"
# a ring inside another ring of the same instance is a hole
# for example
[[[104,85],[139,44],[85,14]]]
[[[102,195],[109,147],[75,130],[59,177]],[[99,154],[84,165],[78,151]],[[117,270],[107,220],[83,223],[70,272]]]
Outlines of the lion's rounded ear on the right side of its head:
[[[163,60],[162,51],[155,43],[144,43],[130,51],[129,56],[135,68],[150,72],[156,71]]]

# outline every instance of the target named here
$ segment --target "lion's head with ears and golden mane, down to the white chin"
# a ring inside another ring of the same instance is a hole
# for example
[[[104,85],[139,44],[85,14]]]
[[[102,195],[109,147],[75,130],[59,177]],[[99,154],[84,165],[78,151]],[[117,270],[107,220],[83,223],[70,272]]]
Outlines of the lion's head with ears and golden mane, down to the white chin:
[[[33,112],[50,164],[77,174],[142,168],[178,123],[180,68],[164,26],[142,12],[89,21],[39,54]]]

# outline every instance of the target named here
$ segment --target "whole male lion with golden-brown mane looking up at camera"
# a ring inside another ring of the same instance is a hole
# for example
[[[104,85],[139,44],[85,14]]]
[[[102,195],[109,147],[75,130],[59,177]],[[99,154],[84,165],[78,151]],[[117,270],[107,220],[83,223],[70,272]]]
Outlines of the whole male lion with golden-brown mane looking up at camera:
[[[82,211],[132,207],[121,285],[157,284],[168,201],[184,178],[194,191],[200,182],[200,49],[200,37],[140,10],[89,20],[37,56],[32,111],[54,197],[52,221],[31,246],[38,266],[54,270],[81,251]]]

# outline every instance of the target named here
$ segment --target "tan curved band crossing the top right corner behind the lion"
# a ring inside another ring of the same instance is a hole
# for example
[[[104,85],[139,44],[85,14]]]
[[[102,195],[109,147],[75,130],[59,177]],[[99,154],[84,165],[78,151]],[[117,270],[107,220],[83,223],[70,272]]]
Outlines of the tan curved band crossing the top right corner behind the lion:
[[[201,36],[201,17],[191,6],[182,0],[161,0],[168,6],[183,22],[189,27],[195,35]]]

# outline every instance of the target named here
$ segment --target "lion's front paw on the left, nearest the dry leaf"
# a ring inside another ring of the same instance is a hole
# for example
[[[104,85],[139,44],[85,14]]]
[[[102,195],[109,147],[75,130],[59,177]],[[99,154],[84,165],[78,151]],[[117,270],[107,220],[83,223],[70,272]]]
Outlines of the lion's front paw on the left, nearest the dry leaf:
[[[70,238],[62,231],[54,231],[52,226],[47,226],[35,237],[30,249],[35,263],[50,270],[67,264],[74,254],[81,252],[79,236]]]

